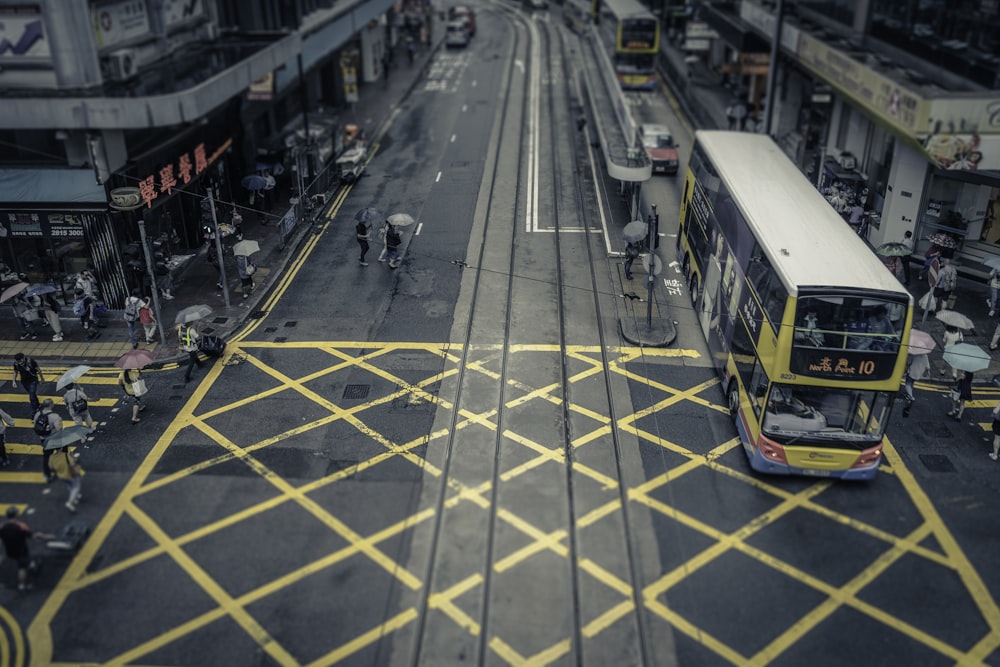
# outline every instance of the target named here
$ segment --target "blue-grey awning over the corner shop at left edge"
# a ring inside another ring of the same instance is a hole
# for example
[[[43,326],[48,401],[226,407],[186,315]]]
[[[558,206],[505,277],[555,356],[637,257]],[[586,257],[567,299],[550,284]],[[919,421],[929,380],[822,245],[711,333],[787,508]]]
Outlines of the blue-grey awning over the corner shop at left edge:
[[[107,204],[93,169],[0,169],[0,207],[26,204]]]

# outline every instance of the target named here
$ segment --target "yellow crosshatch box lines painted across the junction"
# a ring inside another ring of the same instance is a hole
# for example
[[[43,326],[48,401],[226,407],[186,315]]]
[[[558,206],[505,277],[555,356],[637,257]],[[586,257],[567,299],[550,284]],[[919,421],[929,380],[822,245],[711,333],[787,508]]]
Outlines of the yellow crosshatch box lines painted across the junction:
[[[306,376],[292,378],[280,372],[273,366],[266,364],[261,358],[256,356],[262,350],[280,350],[294,353],[297,349],[322,350],[330,355],[330,365],[325,368],[314,370]],[[364,350],[363,354],[357,355],[358,350]],[[443,364],[441,372],[432,373],[428,377],[415,383],[403,381],[391,371],[378,365],[382,359],[391,359],[397,352],[426,352],[436,356]],[[474,345],[468,350],[453,344],[433,344],[433,343],[372,343],[372,342],[334,342],[334,343],[269,343],[269,342],[234,342],[229,352],[239,355],[240,361],[251,365],[253,368],[267,374],[277,383],[271,389],[260,392],[251,397],[237,399],[223,406],[213,407],[210,410],[199,412],[198,408],[207,392],[225,373],[226,366],[216,364],[212,367],[204,382],[198,385],[191,399],[179,412],[175,421],[164,431],[163,435],[154,445],[149,456],[142,462],[133,478],[129,481],[121,495],[108,511],[105,518],[96,527],[93,536],[84,545],[80,554],[71,563],[65,576],[46,600],[42,610],[39,612],[35,622],[29,627],[29,639],[31,640],[33,655],[39,659],[50,657],[53,646],[52,638],[49,636],[49,623],[58,613],[67,597],[80,590],[106,580],[107,578],[137,567],[151,559],[166,555],[183,568],[192,580],[216,601],[216,608],[205,612],[197,618],[189,619],[185,623],[166,629],[160,635],[148,639],[141,645],[132,647],[122,655],[114,657],[111,662],[117,664],[140,662],[149,653],[182,639],[184,636],[198,630],[219,618],[228,616],[242,627],[247,635],[256,641],[261,649],[266,651],[279,664],[298,664],[291,653],[274,640],[254,619],[247,607],[253,602],[263,599],[268,595],[281,591],[282,589],[304,579],[305,577],[318,572],[324,568],[331,567],[345,559],[364,555],[373,563],[379,565],[390,576],[397,578],[400,583],[411,590],[419,589],[424,585],[417,575],[407,571],[404,565],[393,561],[379,547],[385,540],[397,537],[398,535],[411,530],[415,526],[431,521],[435,518],[433,508],[419,509],[408,517],[396,522],[392,526],[384,528],[372,535],[361,535],[347,527],[345,523],[337,519],[325,508],[309,498],[309,494],[316,489],[335,484],[348,479],[358,472],[369,469],[393,457],[402,458],[420,468],[425,474],[432,477],[440,477],[442,471],[430,465],[425,459],[415,453],[415,450],[433,441],[447,439],[450,434],[446,430],[437,431],[428,435],[421,435],[406,443],[392,442],[382,436],[376,429],[368,426],[363,417],[367,410],[378,405],[383,405],[398,398],[407,397],[411,401],[428,402],[439,409],[453,410],[454,406],[447,400],[442,399],[427,390],[428,387],[440,383],[443,379],[451,377],[459,372],[459,363],[463,355],[468,355],[465,364],[466,373],[478,373],[483,377],[499,380],[495,371],[489,369],[489,364],[498,358],[502,352],[497,345]],[[605,366],[601,356],[601,349],[597,346],[570,346],[562,348],[557,345],[520,345],[512,346],[507,352],[509,354],[564,354],[578,362],[589,364],[582,371],[575,372],[569,376],[571,384],[584,382],[600,377]],[[713,388],[718,383],[716,379],[707,380],[701,384],[687,389],[678,389],[654,382],[644,377],[637,371],[635,366],[642,360],[654,358],[694,358],[697,353],[690,350],[674,350],[659,348],[630,348],[614,347],[607,350],[612,356],[609,364],[610,371],[635,382],[641,382],[661,392],[664,397],[654,404],[640,409],[633,414],[622,416],[618,419],[616,428],[622,432],[631,433],[637,438],[663,447],[671,452],[681,454],[686,457],[686,461],[680,465],[665,471],[655,478],[645,480],[638,486],[626,489],[628,501],[647,507],[649,510],[663,514],[671,519],[682,523],[688,528],[713,540],[713,544],[702,552],[694,554],[688,561],[676,566],[669,572],[664,572],[656,581],[647,583],[641,591],[640,599],[642,604],[653,614],[669,622],[675,631],[684,633],[695,641],[714,651],[721,658],[734,664],[766,664],[769,660],[781,655],[789,647],[793,646],[805,634],[813,630],[817,625],[829,618],[831,614],[841,607],[850,607],[857,612],[870,616],[885,625],[891,626],[896,631],[905,634],[913,640],[933,649],[943,656],[957,662],[969,660],[985,659],[990,653],[1000,646],[1000,613],[998,613],[995,602],[989,595],[985,585],[979,578],[978,573],[972,568],[955,540],[951,537],[940,517],[937,515],[929,499],[923,494],[916,484],[915,479],[902,464],[898,454],[893,449],[891,442],[886,443],[885,453],[887,466],[884,468],[886,474],[896,476],[906,491],[909,493],[915,506],[923,517],[923,523],[913,532],[905,536],[896,536],[882,531],[874,526],[865,524],[857,519],[840,514],[834,510],[823,507],[814,502],[814,498],[820,495],[832,484],[830,481],[818,481],[809,487],[790,493],[774,486],[768,478],[755,477],[745,474],[739,470],[723,465],[722,457],[734,449],[741,447],[738,438],[733,438],[716,446],[708,454],[692,452],[682,444],[665,440],[661,435],[650,433],[637,426],[644,418],[657,411],[669,408],[681,402],[689,402],[705,408],[727,413],[724,405],[713,400]],[[382,396],[373,397],[371,401],[363,402],[344,408],[336,403],[324,398],[315,391],[309,389],[307,385],[319,378],[332,376],[342,371],[364,370],[377,375],[386,380],[396,389]],[[543,387],[532,387],[523,380],[511,378],[508,384],[519,390],[516,398],[510,400],[506,407],[515,407],[528,403],[532,400],[543,400],[554,405],[561,405],[565,398],[556,393],[560,390],[558,385],[547,385]],[[256,401],[266,396],[273,396],[282,392],[295,392],[302,398],[312,401],[317,406],[329,412],[329,415],[321,417],[309,424],[305,424],[284,433],[270,436],[259,442],[246,446],[239,446],[225,438],[221,433],[211,428],[207,421],[212,417],[246,409]],[[721,399],[721,396],[719,396]],[[984,401],[992,403],[992,401]],[[606,415],[595,413],[592,409],[572,403],[567,404],[567,409],[593,420],[594,428],[589,432],[575,434],[572,443],[574,448],[585,447],[590,443],[598,442],[601,437],[610,433],[611,424]],[[324,478],[313,480],[308,484],[296,487],[287,482],[280,475],[263,465],[254,454],[270,446],[287,442],[311,429],[320,428],[332,422],[344,422],[350,424],[359,432],[369,436],[374,442],[381,445],[383,452],[374,455],[366,461],[338,470]],[[456,420],[456,428],[485,428],[496,431],[496,410],[487,410],[483,413],[473,413],[468,410],[461,410]],[[161,478],[150,479],[150,475],[163,454],[169,448],[182,429],[193,427],[220,447],[220,453],[206,461],[194,464],[182,470],[164,475]],[[518,444],[527,451],[533,452],[534,456],[521,463],[519,466],[504,472],[504,481],[524,474],[528,470],[553,463],[564,465],[565,452],[561,447],[549,447],[543,443],[533,441],[523,434],[508,429],[503,433],[504,438],[510,443]],[[171,537],[166,534],[155,522],[155,520],[139,509],[135,500],[150,491],[168,487],[170,484],[191,475],[202,472],[210,467],[220,465],[229,461],[238,460],[256,472],[262,479],[269,482],[278,495],[269,497],[251,507],[244,508],[234,514],[222,519],[203,525],[187,534]],[[601,471],[592,469],[579,461],[573,462],[574,471],[587,476],[597,482],[605,491],[617,489],[619,481],[608,477]],[[744,526],[731,532],[724,533],[680,510],[666,505],[653,497],[655,491],[675,481],[684,475],[699,469],[708,468],[715,472],[726,475],[734,481],[752,485],[757,489],[773,495],[778,504],[758,517],[750,519]],[[489,482],[480,483],[474,487],[464,485],[460,480],[448,480],[449,496],[445,500],[445,510],[454,508],[459,503],[471,502],[474,506],[488,510],[489,498],[491,497],[492,485]],[[621,511],[621,502],[616,493],[610,494],[607,503],[590,510],[586,515],[578,519],[579,526],[592,525],[601,518]],[[343,539],[347,545],[324,557],[307,563],[297,570],[286,573],[277,579],[267,582],[264,585],[244,593],[239,597],[229,596],[224,589],[215,582],[208,573],[186,555],[183,547],[191,542],[211,535],[226,527],[232,526],[240,521],[250,519],[265,511],[268,511],[282,503],[297,503],[300,507],[308,511],[317,519],[322,521],[333,533]],[[862,570],[853,580],[841,585],[832,586],[826,582],[799,570],[793,565],[784,562],[771,554],[768,554],[747,543],[747,540],[754,534],[760,532],[768,525],[779,521],[793,510],[803,509],[814,512],[820,516],[836,521],[854,530],[864,533],[870,537],[878,539],[885,544],[885,549],[880,556],[876,557],[864,570]],[[108,565],[105,568],[88,572],[91,561],[100,550],[104,540],[107,539],[114,526],[123,518],[130,517],[136,522],[153,540],[154,546],[138,554],[134,554],[118,563]],[[552,532],[544,532],[535,528],[530,521],[518,516],[508,509],[497,508],[497,519],[519,531],[528,538],[527,544],[520,547],[513,553],[507,554],[501,560],[493,564],[496,571],[510,570],[516,568],[526,560],[535,555],[545,552],[554,554],[559,558],[570,557],[566,529],[559,529]],[[933,536],[937,543],[941,545],[941,551],[921,546],[925,538]],[[740,654],[733,647],[725,645],[717,638],[711,636],[704,628],[699,628],[691,621],[681,617],[662,602],[661,596],[667,593],[672,587],[683,581],[692,573],[709,566],[713,561],[722,555],[736,551],[748,556],[756,561],[775,569],[784,575],[791,577],[801,584],[804,584],[825,597],[816,608],[806,613],[783,633],[775,637],[770,644],[758,651],[756,655],[745,656]],[[976,645],[963,651],[958,647],[953,647],[943,642],[939,638],[927,633],[920,628],[914,627],[902,620],[891,616],[887,612],[879,609],[871,603],[865,602],[857,597],[857,594],[864,587],[877,578],[881,573],[896,563],[905,555],[927,559],[937,565],[954,570],[963,581],[975,604],[986,619],[990,632],[981,638]],[[622,581],[618,576],[603,568],[600,564],[583,559],[578,564],[582,573],[592,577],[594,580],[604,584],[609,590],[620,596],[620,600],[611,603],[609,608],[592,619],[584,619],[585,625],[583,634],[585,637],[598,637],[600,633],[621,619],[623,616],[633,613],[633,591],[632,584]],[[478,635],[481,628],[476,621],[460,608],[457,604],[458,598],[468,591],[483,585],[482,573],[472,572],[444,591],[430,591],[428,594],[428,604],[441,611],[446,617],[470,635]],[[378,627],[370,628],[362,635],[348,641],[345,645],[330,651],[319,660],[314,661],[315,665],[334,664],[339,660],[348,658],[362,648],[378,641],[379,638],[391,633],[407,624],[413,623],[418,616],[417,609],[407,609],[397,616],[386,620]],[[525,656],[519,653],[516,647],[510,645],[511,638],[491,637],[488,645],[493,650],[496,657],[511,664],[549,664],[558,661],[567,655],[572,649],[571,638],[562,638],[534,655]]]

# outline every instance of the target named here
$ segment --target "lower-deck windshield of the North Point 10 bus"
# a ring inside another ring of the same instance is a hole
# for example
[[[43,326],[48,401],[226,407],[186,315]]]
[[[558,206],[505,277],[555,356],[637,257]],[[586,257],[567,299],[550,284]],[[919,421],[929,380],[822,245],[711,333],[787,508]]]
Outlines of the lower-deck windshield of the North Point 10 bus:
[[[803,439],[863,448],[882,438],[888,409],[885,392],[774,384],[762,430],[782,444]]]

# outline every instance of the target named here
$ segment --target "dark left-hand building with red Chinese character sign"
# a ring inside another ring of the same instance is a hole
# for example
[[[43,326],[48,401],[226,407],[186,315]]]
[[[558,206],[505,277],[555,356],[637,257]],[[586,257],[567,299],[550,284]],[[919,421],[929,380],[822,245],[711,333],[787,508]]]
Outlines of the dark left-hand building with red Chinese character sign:
[[[266,201],[249,176],[293,187],[301,166],[319,188],[342,112],[382,76],[404,9],[0,0],[0,281],[52,281],[65,295],[90,266],[120,307],[143,279],[139,219],[180,261],[204,244],[209,188],[220,222]],[[138,188],[144,206],[109,207],[119,188]]]

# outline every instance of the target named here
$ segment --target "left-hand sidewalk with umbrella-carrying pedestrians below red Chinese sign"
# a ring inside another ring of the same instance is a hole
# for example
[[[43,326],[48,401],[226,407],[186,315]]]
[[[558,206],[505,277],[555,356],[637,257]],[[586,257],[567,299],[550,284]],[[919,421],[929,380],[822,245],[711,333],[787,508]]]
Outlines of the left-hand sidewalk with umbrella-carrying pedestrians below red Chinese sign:
[[[380,80],[363,84],[359,89],[359,100],[349,108],[340,109],[340,117],[344,123],[355,123],[369,137],[369,143],[379,138],[379,133],[391,116],[393,110],[401,103],[409,91],[417,85],[430,63],[439,43],[417,53],[415,62],[408,66],[402,64],[405,55],[397,54],[397,66],[393,67],[388,81]],[[398,50],[398,49],[397,49]],[[237,179],[238,180],[238,179]],[[338,187],[333,188],[335,192]],[[332,194],[328,193],[328,194]],[[328,202],[334,201],[333,196],[327,197]],[[245,201],[236,202],[246,205]],[[229,202],[220,202],[222,208]],[[174,318],[182,308],[196,304],[206,304],[213,309],[213,314],[200,323],[202,333],[209,333],[228,339],[239,330],[251,315],[257,315],[260,304],[266,300],[267,293],[280,282],[285,268],[297,252],[303,237],[309,233],[307,223],[299,223],[292,232],[284,248],[279,247],[281,238],[278,231],[280,216],[289,208],[288,195],[276,199],[268,214],[264,216],[264,224],[258,222],[257,215],[250,211],[243,213],[243,237],[257,241],[260,251],[253,255],[257,266],[254,274],[256,283],[253,293],[247,299],[243,298],[240,289],[240,279],[236,272],[236,263],[231,254],[226,256],[226,283],[229,287],[229,302],[227,308],[224,293],[216,286],[218,272],[206,259],[207,246],[181,251],[180,254],[192,254],[187,265],[182,269],[180,277],[175,276],[173,300],[160,299],[160,318],[163,322],[166,344],[156,343],[145,345],[142,325],[136,323],[136,340],[140,348],[151,349],[156,355],[152,367],[162,367],[165,364],[186,358],[186,353],[178,351]],[[322,218],[326,210],[320,210],[316,219]],[[224,247],[230,247],[236,242],[235,237],[223,240]],[[37,338],[21,340],[22,332],[14,318],[9,304],[0,306],[0,358],[13,361],[14,355],[23,352],[34,357],[39,363],[48,366],[59,365],[110,365],[125,352],[132,349],[128,340],[128,330],[122,318],[121,311],[109,311],[101,318],[104,328],[101,336],[93,342],[86,342],[85,332],[80,325],[80,318],[72,313],[72,304],[63,307],[60,314],[64,340],[52,341],[52,330],[46,327],[36,327]],[[157,333],[156,338],[159,339]]]

